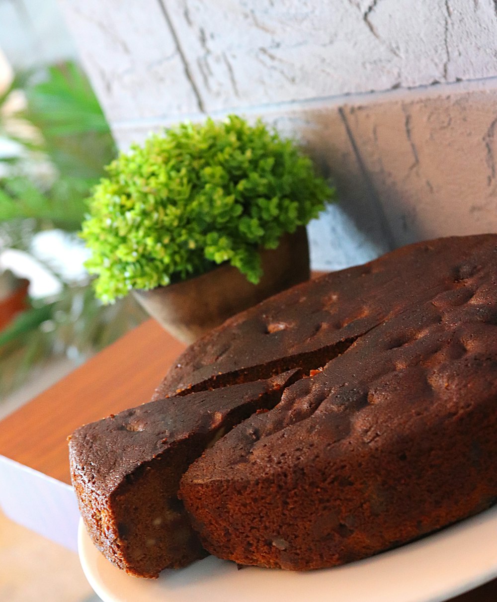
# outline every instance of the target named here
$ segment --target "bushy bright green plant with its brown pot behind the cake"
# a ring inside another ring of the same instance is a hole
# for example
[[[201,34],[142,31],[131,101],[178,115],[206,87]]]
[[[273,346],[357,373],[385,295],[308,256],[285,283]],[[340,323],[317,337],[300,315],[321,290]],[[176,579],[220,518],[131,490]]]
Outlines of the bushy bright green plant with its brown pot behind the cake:
[[[333,188],[262,122],[184,123],[132,146],[94,188],[82,237],[97,296],[134,290],[191,342],[309,278],[304,226]]]

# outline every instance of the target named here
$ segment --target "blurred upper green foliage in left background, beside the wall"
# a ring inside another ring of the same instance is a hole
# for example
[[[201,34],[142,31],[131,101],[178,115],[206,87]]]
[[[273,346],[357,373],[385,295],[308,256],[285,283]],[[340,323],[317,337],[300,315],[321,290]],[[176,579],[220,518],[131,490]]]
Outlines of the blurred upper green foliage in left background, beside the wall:
[[[77,231],[88,191],[116,156],[105,116],[75,63],[48,67],[41,76],[16,75],[0,95],[0,108],[19,92],[25,109],[0,111],[0,136],[20,148],[0,158],[7,167],[0,172],[0,238],[2,222],[10,220],[35,220],[37,230]]]

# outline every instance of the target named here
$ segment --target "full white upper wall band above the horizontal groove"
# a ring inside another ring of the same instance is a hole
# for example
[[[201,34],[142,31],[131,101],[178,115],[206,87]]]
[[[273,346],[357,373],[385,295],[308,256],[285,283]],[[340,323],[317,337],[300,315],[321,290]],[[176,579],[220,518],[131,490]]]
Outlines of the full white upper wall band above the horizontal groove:
[[[111,120],[497,74],[492,0],[60,2]]]

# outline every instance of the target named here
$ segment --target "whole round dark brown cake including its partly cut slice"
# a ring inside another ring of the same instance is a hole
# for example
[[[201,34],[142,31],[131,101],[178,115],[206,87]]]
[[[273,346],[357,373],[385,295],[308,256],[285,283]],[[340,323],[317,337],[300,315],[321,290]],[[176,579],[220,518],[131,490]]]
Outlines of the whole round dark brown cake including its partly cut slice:
[[[132,574],[203,548],[333,566],[475,514],[497,500],[497,235],[280,293],[190,346],[154,399],[70,442],[88,530]]]

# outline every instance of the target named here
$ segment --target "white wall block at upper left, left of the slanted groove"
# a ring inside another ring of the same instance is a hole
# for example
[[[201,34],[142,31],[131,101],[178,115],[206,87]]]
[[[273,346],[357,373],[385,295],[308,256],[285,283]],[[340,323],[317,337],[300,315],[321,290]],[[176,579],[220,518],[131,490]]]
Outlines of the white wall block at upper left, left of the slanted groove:
[[[61,6],[111,123],[199,110],[157,0],[63,0]]]

